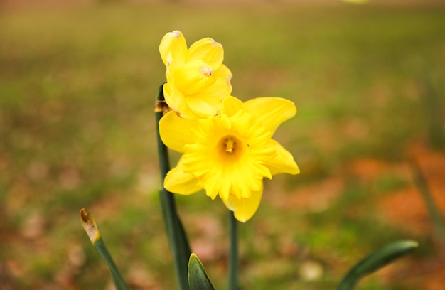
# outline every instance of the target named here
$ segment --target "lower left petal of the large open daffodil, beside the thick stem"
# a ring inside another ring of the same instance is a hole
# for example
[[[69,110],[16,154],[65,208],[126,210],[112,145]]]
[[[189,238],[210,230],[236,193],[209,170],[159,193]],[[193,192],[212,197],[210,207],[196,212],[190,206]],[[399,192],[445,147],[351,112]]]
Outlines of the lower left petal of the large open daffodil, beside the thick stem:
[[[202,188],[198,186],[198,179],[190,173],[184,173],[182,157],[178,161],[178,165],[168,171],[163,181],[163,186],[171,193],[190,195],[196,193]]]

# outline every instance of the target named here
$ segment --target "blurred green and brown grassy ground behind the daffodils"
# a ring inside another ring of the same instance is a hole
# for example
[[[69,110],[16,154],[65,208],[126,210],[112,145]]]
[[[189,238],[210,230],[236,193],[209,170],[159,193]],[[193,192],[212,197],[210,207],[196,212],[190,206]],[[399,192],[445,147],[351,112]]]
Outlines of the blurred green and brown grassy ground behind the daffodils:
[[[240,225],[244,289],[335,289],[402,239],[419,249],[358,289],[444,289],[445,5],[420,0],[1,1],[0,289],[112,289],[81,208],[132,289],[176,289],[154,122],[175,29],[223,44],[235,97],[299,109],[275,139],[301,174],[267,181]],[[224,289],[225,206],[178,208]]]

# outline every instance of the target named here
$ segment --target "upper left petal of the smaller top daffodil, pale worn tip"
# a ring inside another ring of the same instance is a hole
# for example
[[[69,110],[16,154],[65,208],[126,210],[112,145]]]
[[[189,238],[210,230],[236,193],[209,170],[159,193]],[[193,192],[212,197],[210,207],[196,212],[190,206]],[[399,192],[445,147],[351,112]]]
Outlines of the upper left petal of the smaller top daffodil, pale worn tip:
[[[182,64],[186,60],[187,43],[181,31],[166,33],[159,44],[159,53],[164,65],[168,65],[172,60]]]

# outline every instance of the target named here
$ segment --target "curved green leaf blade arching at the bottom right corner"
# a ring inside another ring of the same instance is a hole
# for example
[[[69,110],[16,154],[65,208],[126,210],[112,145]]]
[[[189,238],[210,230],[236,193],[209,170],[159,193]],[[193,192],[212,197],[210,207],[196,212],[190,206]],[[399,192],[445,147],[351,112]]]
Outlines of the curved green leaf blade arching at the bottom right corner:
[[[402,257],[404,254],[412,252],[412,250],[419,247],[419,244],[412,240],[405,240],[399,242],[393,242],[385,245],[375,252],[372,252],[360,262],[355,264],[343,278],[338,286],[338,290],[350,290],[354,289],[358,281],[377,269],[384,267],[393,260]]]

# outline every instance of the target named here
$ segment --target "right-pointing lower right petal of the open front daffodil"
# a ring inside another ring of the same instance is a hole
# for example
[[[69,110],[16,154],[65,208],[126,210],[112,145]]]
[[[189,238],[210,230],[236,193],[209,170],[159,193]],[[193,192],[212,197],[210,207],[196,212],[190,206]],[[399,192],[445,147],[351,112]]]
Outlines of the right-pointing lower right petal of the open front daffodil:
[[[284,149],[284,147],[279,144],[274,139],[270,139],[269,146],[274,146],[277,156],[273,159],[267,161],[266,166],[269,168],[272,175],[278,173],[289,173],[289,174],[299,174],[300,169],[294,161],[292,154]]]

